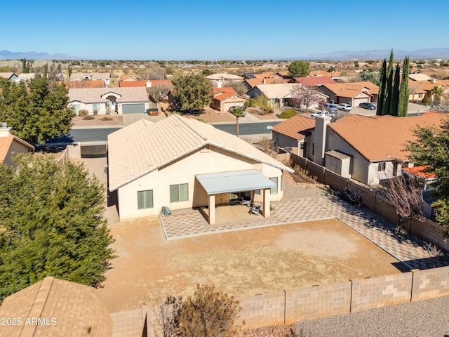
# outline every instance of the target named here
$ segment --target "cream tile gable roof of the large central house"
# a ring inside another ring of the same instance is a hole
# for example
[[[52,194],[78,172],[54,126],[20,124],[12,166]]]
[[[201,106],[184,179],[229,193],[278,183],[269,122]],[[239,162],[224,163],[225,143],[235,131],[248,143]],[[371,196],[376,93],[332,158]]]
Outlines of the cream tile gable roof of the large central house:
[[[177,114],[154,124],[142,119],[110,133],[107,139],[110,191],[206,145],[292,171],[236,136]]]

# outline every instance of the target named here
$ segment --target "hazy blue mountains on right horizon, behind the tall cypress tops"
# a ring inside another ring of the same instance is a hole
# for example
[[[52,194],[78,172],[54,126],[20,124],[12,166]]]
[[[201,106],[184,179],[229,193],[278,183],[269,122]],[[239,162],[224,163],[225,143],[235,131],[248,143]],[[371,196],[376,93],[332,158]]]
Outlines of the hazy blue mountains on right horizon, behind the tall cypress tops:
[[[307,56],[302,56],[300,60],[383,60],[384,58],[389,58],[391,49],[380,51],[335,51],[332,53],[314,53]],[[400,59],[410,56],[411,59],[424,60],[424,59],[435,59],[449,58],[449,48],[427,48],[418,49],[416,51],[401,51],[393,50],[394,58]]]

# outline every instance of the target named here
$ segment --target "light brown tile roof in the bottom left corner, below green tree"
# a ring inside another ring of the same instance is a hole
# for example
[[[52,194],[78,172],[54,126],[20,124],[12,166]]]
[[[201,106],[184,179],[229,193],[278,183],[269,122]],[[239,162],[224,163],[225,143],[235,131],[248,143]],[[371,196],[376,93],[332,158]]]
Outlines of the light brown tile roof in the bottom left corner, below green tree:
[[[114,326],[93,287],[55,277],[46,277],[5,298],[0,317],[15,322],[2,324],[1,336],[112,337]]]

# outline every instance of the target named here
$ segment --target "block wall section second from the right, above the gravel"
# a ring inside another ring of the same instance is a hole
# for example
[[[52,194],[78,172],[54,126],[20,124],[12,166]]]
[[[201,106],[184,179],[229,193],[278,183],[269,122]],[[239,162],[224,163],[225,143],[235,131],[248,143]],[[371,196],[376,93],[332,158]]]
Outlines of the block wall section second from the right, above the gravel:
[[[413,273],[354,279],[351,312],[410,302]]]

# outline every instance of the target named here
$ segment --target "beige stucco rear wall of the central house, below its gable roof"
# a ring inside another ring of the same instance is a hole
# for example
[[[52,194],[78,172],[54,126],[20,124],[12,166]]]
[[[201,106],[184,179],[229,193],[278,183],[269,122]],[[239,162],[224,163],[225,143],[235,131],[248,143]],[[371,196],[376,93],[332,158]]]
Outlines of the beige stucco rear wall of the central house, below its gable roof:
[[[171,210],[206,206],[208,203],[207,194],[196,181],[196,174],[250,169],[256,169],[268,178],[277,177],[278,193],[272,194],[270,200],[279,201],[282,199],[283,192],[280,186],[282,171],[280,169],[217,147],[204,147],[119,188],[120,218],[123,220],[153,216],[161,212],[162,206],[168,206]],[[189,184],[189,200],[170,203],[170,185],[185,183]],[[153,190],[152,209],[138,209],[137,192],[144,190]],[[262,198],[262,195],[255,196],[256,201],[262,201],[259,198]],[[225,196],[222,196],[221,199],[224,200]]]

